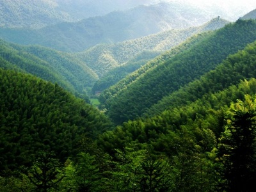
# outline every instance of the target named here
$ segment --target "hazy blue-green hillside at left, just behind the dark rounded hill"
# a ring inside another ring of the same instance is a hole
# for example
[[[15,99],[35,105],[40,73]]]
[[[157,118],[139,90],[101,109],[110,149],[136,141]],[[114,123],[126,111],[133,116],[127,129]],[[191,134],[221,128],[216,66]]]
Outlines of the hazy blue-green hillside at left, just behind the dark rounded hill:
[[[22,46],[0,40],[0,58],[8,65],[0,63],[2,68],[20,68],[41,77],[72,93],[86,94],[90,91],[97,74],[83,61],[64,52],[40,46]]]

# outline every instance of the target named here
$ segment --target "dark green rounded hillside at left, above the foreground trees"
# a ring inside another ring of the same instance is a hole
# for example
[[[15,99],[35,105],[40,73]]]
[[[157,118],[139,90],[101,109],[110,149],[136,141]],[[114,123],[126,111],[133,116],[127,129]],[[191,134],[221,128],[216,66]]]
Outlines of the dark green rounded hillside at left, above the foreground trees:
[[[61,161],[76,153],[81,134],[95,137],[109,120],[82,99],[35,76],[0,68],[0,168],[29,164],[38,150]]]

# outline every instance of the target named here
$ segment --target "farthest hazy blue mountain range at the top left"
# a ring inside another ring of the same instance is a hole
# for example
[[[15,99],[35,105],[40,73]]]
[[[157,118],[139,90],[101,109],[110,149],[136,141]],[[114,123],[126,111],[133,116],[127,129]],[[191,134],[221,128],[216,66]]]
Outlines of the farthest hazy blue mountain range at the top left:
[[[74,22],[115,10],[126,10],[152,0],[1,0],[0,26],[42,28],[60,22]]]

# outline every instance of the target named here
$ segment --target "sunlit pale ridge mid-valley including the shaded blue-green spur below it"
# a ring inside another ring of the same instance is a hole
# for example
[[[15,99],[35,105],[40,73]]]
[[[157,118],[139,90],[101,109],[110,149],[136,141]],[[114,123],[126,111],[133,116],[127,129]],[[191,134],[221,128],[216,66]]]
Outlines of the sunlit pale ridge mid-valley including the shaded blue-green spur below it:
[[[159,52],[179,45],[192,35],[220,29],[227,23],[227,20],[216,18],[199,27],[172,29],[118,44],[96,45],[84,52],[77,53],[76,56],[99,75],[100,80],[93,90],[102,91],[145,64],[147,61],[145,58],[154,58]],[[151,52],[151,56],[148,51]],[[143,61],[140,61],[141,59]],[[122,66],[117,67],[119,65]],[[106,74],[111,68],[113,70]]]

